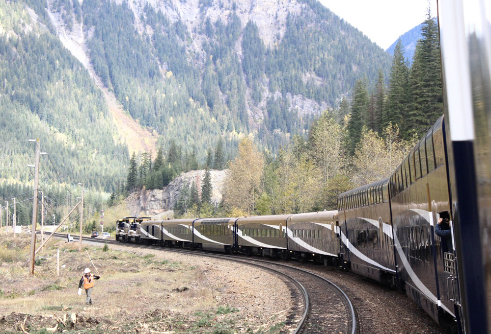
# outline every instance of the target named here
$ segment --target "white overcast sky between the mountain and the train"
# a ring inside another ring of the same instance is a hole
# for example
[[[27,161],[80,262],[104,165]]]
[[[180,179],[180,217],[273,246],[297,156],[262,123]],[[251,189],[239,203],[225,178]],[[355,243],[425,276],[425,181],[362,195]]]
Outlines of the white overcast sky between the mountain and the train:
[[[384,50],[399,36],[422,23],[436,0],[320,0],[327,8],[361,30]]]

